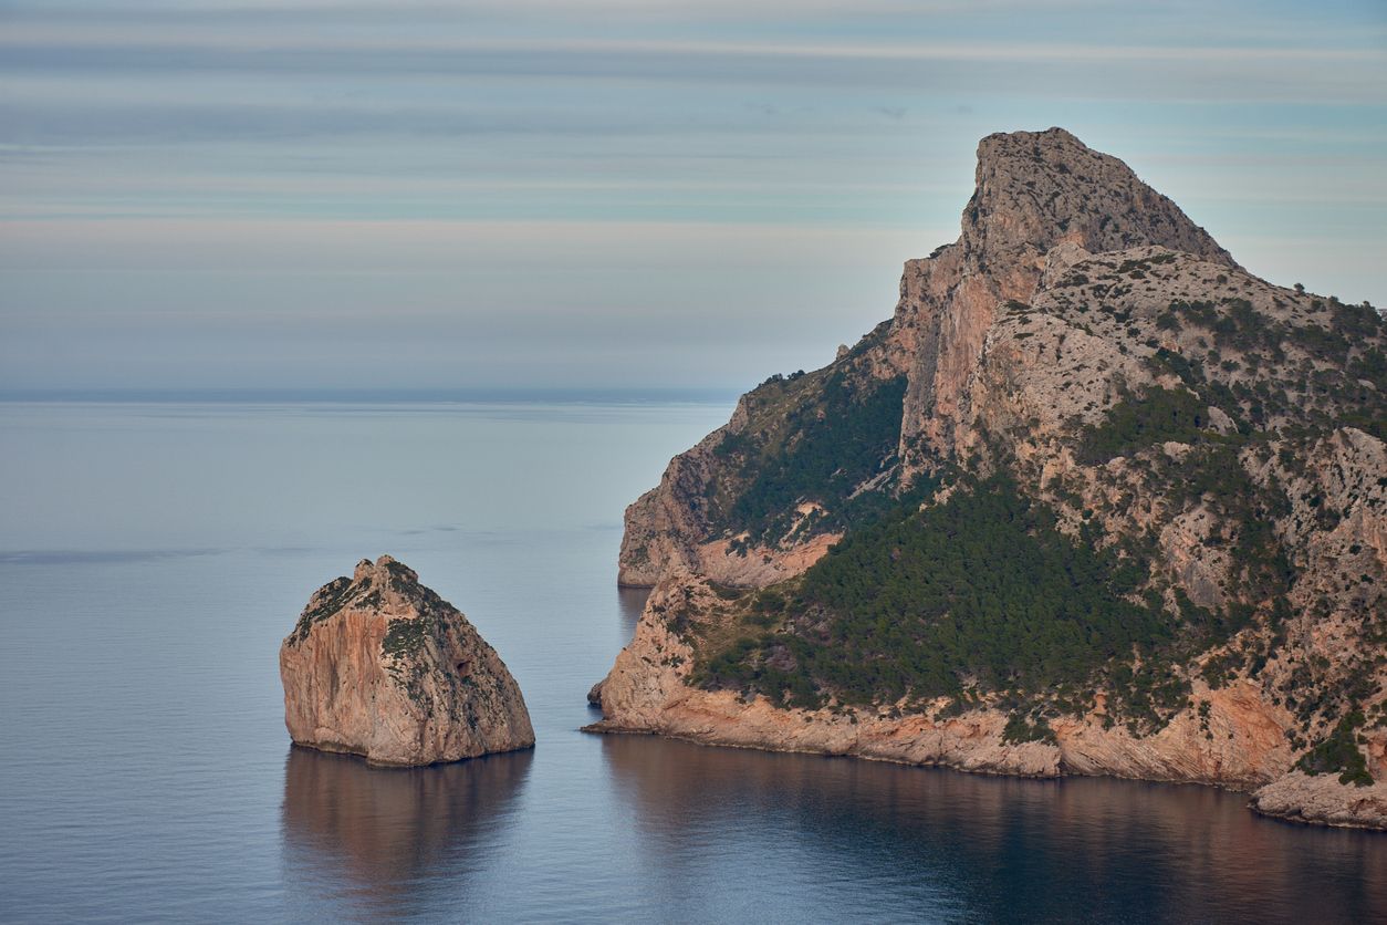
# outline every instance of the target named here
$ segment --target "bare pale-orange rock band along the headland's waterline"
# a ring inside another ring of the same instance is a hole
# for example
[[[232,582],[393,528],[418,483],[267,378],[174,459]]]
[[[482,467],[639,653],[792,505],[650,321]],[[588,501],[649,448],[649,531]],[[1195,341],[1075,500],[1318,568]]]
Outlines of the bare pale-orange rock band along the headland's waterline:
[[[646,602],[634,638],[588,702],[602,720],[584,732],[659,735],[670,739],[822,756],[860,757],[904,766],[945,767],[970,774],[1054,779],[1119,779],[1203,784],[1248,793],[1248,807],[1307,824],[1387,831],[1387,784],[1341,785],[1333,775],[1295,770],[1286,731],[1293,717],[1241,680],[1209,689],[1160,731],[1137,736],[1108,725],[1101,714],[1058,717],[1053,741],[1007,742],[1007,713],[986,706],[953,717],[875,709],[782,709],[764,696],[703,691],[688,684],[695,652],[663,614],[712,605],[714,594],[682,573],[662,582]]]

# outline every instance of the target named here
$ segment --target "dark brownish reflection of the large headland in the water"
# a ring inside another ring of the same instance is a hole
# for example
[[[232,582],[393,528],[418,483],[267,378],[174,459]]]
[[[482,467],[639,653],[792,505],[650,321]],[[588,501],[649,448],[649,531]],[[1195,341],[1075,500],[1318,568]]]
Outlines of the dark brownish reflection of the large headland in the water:
[[[1025,781],[609,736],[646,882],[755,870],[818,908],[946,921],[1387,921],[1387,839],[1201,786]],[[709,856],[723,856],[710,867]],[[681,886],[681,882],[684,886]],[[673,886],[671,886],[673,885]],[[724,907],[724,911],[725,907]]]

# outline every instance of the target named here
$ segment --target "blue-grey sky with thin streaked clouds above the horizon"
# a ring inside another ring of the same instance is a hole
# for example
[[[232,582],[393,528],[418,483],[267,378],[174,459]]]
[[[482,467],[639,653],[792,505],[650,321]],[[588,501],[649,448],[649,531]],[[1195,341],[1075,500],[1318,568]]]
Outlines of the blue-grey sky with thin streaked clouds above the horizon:
[[[743,390],[1051,125],[1387,304],[1383,0],[0,0],[0,395]]]

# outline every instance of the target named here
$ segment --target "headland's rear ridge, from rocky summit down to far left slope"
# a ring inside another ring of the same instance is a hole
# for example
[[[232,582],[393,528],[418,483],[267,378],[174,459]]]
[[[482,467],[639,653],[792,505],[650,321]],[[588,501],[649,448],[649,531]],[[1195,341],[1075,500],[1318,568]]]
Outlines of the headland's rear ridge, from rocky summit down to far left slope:
[[[1029,301],[1053,247],[1161,244],[1234,266],[1125,164],[1062,129],[988,136],[976,180],[958,240],[906,263],[890,322],[825,369],[745,395],[627,509],[621,584],[681,564],[750,587],[811,564],[871,495],[936,465],[996,308]],[[842,433],[861,417],[870,434]]]

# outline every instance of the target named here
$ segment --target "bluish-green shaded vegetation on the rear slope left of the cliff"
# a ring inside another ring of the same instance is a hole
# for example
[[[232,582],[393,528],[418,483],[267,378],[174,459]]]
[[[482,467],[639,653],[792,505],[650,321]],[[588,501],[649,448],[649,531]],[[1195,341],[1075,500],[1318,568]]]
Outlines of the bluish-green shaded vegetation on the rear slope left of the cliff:
[[[784,442],[759,445],[730,434],[716,452],[741,460],[745,488],[717,520],[753,539],[775,539],[791,528],[802,501],[828,508],[829,523],[822,526],[860,519],[879,498],[849,505],[849,495],[896,452],[904,395],[904,376],[853,384],[834,373],[816,402],[786,413]]]

